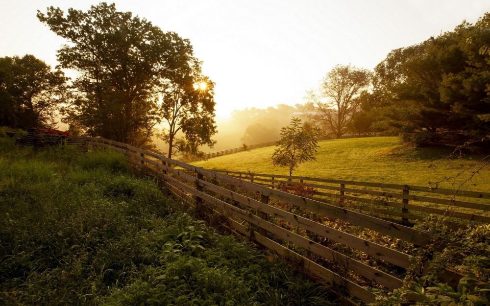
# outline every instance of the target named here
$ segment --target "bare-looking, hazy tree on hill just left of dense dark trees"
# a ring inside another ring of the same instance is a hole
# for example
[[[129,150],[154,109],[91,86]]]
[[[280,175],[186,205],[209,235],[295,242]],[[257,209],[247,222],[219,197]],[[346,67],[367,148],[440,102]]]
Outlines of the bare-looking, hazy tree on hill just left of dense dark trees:
[[[337,65],[328,72],[318,93],[310,92],[308,117],[320,123],[326,136],[341,138],[356,113],[358,95],[370,84],[370,72],[351,65]]]

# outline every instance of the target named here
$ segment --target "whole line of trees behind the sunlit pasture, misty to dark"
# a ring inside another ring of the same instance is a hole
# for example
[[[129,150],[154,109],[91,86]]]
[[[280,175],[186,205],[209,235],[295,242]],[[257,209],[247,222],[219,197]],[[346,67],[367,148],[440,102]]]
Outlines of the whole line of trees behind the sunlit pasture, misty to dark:
[[[374,71],[338,65],[306,100],[294,107],[235,111],[230,126],[241,127],[237,135],[245,144],[277,140],[294,116],[336,138],[381,133],[415,145],[485,145],[490,135],[490,14],[476,24],[464,22],[454,31],[392,50]]]

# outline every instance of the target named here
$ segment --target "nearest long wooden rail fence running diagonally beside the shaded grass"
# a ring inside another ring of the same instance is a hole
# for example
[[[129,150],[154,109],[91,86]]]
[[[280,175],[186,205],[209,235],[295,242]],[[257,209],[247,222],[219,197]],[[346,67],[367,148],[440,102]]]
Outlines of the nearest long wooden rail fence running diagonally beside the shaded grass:
[[[127,155],[134,167],[157,179],[179,202],[216,214],[223,226],[293,259],[347,304],[372,302],[377,296],[373,288],[402,286],[417,248],[446,243],[434,241],[425,231],[256,184],[261,181],[255,176],[252,183],[121,142],[87,139],[91,147]],[[446,270],[441,281],[461,277]]]

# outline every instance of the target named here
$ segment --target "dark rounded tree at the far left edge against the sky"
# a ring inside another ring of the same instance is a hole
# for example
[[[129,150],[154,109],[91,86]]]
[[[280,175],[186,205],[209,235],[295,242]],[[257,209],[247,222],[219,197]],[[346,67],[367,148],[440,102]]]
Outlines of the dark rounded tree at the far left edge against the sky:
[[[33,55],[0,58],[0,126],[53,125],[69,96],[66,81]]]

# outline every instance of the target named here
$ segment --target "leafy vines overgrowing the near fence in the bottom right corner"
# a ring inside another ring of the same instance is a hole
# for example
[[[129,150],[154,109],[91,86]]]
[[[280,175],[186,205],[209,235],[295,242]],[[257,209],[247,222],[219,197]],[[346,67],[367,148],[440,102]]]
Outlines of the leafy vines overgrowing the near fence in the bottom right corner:
[[[443,225],[443,219],[428,218],[419,228],[435,234],[435,239],[448,242],[441,252],[434,252],[431,259],[420,254],[411,273],[405,279],[405,285],[391,294],[382,296],[378,305],[437,305],[437,306],[483,306],[490,305],[490,225],[478,225],[466,229],[449,230]],[[424,269],[429,273],[415,277],[420,262],[428,264]],[[439,281],[439,273],[450,269],[466,275],[454,286]],[[414,298],[416,302],[413,302]],[[409,302],[412,300],[412,302]]]

